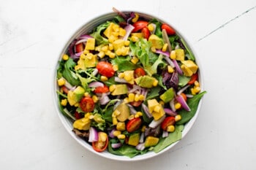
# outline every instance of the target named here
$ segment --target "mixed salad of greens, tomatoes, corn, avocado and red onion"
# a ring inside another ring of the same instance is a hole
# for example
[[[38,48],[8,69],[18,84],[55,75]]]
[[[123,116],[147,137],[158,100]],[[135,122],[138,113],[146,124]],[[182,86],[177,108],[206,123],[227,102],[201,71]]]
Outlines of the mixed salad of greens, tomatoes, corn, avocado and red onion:
[[[59,61],[59,109],[97,152],[160,152],[181,139],[206,93],[199,68],[171,26],[115,11]]]

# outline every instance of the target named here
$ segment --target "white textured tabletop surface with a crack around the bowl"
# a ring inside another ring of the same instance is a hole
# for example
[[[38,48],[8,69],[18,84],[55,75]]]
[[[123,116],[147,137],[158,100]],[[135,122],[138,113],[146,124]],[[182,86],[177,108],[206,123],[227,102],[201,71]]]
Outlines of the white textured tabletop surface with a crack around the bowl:
[[[192,42],[205,89],[192,130],[146,161],[83,150],[53,105],[56,59],[71,34],[112,7],[164,18]],[[0,169],[256,169],[256,2],[0,0]]]

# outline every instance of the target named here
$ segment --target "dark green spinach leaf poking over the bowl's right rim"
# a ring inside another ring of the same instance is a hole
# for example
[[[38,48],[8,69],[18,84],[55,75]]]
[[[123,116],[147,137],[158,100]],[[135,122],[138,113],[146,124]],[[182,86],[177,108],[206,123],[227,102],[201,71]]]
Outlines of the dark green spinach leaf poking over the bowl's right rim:
[[[182,109],[180,112],[178,112],[178,114],[181,115],[182,119],[176,122],[177,125],[187,123],[192,117],[194,117],[195,112],[197,112],[199,101],[205,93],[206,91],[203,91],[195,95],[194,97],[187,99],[187,104],[189,105],[191,110],[190,112],[188,112],[185,109]]]

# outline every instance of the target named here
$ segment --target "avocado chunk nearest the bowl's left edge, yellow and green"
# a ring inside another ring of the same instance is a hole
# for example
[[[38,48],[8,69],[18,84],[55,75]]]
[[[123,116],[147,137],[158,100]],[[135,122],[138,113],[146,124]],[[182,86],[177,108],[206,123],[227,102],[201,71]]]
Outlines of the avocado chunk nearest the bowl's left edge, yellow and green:
[[[83,98],[83,94],[86,92],[82,87],[78,86],[75,90],[69,90],[67,93],[67,101],[69,101],[70,106],[74,106],[78,103],[81,98]]]

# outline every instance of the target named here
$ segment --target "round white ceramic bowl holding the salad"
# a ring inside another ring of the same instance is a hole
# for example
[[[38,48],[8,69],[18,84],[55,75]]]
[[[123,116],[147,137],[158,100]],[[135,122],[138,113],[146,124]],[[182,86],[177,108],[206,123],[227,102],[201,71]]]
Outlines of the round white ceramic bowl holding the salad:
[[[124,12],[127,13],[127,12]],[[176,34],[178,34],[178,36],[180,36],[182,39],[185,40],[185,42],[187,42],[187,45],[189,46],[189,49],[192,50],[192,45],[187,41],[187,39],[184,38],[184,36],[182,36],[182,34],[178,31],[178,29],[173,26],[171,23],[168,23],[166,20],[162,20],[160,18],[157,18],[155,16],[152,15],[148,15],[146,13],[140,13],[138,12],[138,14],[140,16],[143,16],[143,18],[147,18],[147,19],[151,19],[151,18],[156,18],[157,20],[159,20],[161,23],[167,23],[170,26],[172,26],[175,30],[176,30]],[[94,18],[93,20],[90,20],[88,23],[84,24],[81,28],[78,29],[78,31],[76,31],[67,41],[66,45],[63,47],[63,49],[61,50],[61,53],[59,54],[59,58],[58,58],[58,62],[56,62],[56,69],[59,67],[59,61],[61,60],[62,55],[64,55],[65,53],[67,53],[67,49],[70,45],[70,43],[78,38],[80,35],[85,34],[90,32],[91,30],[93,30],[96,26],[98,26],[100,23],[104,23],[107,20],[112,19],[113,17],[116,16],[115,12],[110,12],[110,13],[106,13],[105,15],[100,15],[97,18]],[[195,51],[192,50],[192,52],[195,55],[195,59],[196,59],[196,63],[199,66],[200,70],[199,70],[199,81],[200,81],[200,88],[203,91],[203,75],[202,75],[202,67],[200,65],[200,62],[197,58],[197,55],[195,54]],[[90,152],[94,152],[95,154],[105,157],[105,158],[109,158],[111,160],[116,160],[116,161],[140,161],[140,160],[145,160],[147,158],[153,158],[157,155],[162,154],[163,152],[166,152],[167,150],[170,150],[174,145],[176,145],[178,142],[175,142],[173,144],[170,144],[170,146],[166,147],[164,150],[162,150],[161,152],[155,153],[155,152],[147,152],[144,155],[137,155],[134,158],[128,158],[126,156],[118,156],[118,155],[113,155],[108,151],[105,152],[96,152],[95,150],[93,150],[93,148],[91,147],[91,145],[89,143],[87,143],[86,141],[84,141],[83,139],[81,139],[79,136],[75,135],[72,132],[72,123],[67,119],[67,117],[65,117],[60,109],[59,109],[59,103],[58,103],[58,95],[56,93],[56,90],[58,90],[58,85],[56,84],[56,69],[54,70],[54,81],[53,81],[53,93],[54,93],[54,102],[55,102],[55,106],[56,106],[56,111],[57,114],[59,115],[59,118],[61,120],[61,123],[63,123],[64,127],[67,129],[67,131],[69,132],[69,134],[72,136],[73,139],[75,139],[76,142],[78,142],[79,144],[81,144],[86,150],[85,152],[87,152],[88,150]],[[192,125],[195,123],[195,120],[197,119],[197,115],[200,111],[200,106],[202,103],[202,99],[200,100],[200,103],[197,107],[197,112],[195,113],[195,116],[192,117],[191,120],[189,120],[189,122],[187,124],[184,125],[184,130],[182,131],[182,139],[184,138],[184,136],[189,132],[189,130],[192,128]]]

